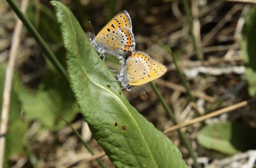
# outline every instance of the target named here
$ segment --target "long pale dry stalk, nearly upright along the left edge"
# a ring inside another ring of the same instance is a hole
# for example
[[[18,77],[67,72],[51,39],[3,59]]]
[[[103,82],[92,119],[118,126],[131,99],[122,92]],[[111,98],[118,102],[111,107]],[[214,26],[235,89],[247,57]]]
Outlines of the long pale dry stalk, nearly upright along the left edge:
[[[28,7],[28,0],[22,1],[21,9],[23,12],[26,11],[27,7]],[[9,62],[8,62],[6,73],[5,73],[5,85],[3,88],[3,106],[2,106],[2,112],[1,112],[0,135],[7,134],[13,70],[15,65],[15,57],[20,45],[21,32],[22,32],[22,22],[18,20],[13,32],[11,50],[9,54]],[[5,152],[5,136],[1,136],[0,137],[0,168],[3,167],[4,152]]]

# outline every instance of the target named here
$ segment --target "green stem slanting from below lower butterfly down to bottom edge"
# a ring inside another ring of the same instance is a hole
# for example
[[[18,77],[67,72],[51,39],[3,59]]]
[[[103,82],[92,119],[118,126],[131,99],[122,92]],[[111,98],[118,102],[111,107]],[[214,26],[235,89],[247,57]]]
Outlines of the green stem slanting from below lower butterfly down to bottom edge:
[[[156,93],[158,99],[160,99],[160,102],[162,103],[162,106],[164,106],[164,109],[166,110],[168,116],[170,117],[170,120],[172,120],[172,123],[174,125],[177,125],[177,121],[174,118],[174,116],[172,115],[172,111],[168,107],[166,101],[164,100],[164,97],[162,97],[162,95],[160,94],[160,92],[156,88],[156,85],[152,82],[150,82],[150,85],[152,86],[152,88],[153,88],[154,92]],[[177,130],[177,131],[179,133],[179,136],[181,137],[181,140],[183,140],[185,146],[187,146],[187,150],[189,151],[189,155],[192,157],[192,159],[194,161],[194,166],[197,167],[197,168],[201,168],[201,165],[199,165],[199,163],[197,162],[197,158],[195,157],[195,153],[193,152],[193,149],[191,148],[191,145],[189,144],[189,140],[187,140],[186,136],[183,134],[183,132],[181,132],[181,130]]]

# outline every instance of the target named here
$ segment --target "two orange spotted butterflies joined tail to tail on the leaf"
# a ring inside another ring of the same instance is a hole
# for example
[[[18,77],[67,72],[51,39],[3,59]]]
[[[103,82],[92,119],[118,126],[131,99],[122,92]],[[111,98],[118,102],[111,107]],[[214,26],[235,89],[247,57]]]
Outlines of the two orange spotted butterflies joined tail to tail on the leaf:
[[[118,81],[128,91],[132,86],[153,81],[167,71],[164,65],[145,52],[135,51],[135,38],[127,11],[115,15],[90,42],[100,56],[108,53],[119,59],[121,71]]]

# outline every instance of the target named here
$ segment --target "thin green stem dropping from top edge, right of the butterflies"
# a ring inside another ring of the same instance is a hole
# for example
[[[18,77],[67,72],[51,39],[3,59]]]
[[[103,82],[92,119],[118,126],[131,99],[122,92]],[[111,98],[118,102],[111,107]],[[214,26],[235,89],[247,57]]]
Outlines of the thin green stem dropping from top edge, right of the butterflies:
[[[189,4],[187,3],[187,0],[183,0],[182,2],[183,2],[183,7],[185,9],[187,22],[189,23],[189,33],[191,34],[191,37],[193,40],[193,47],[195,48],[195,54],[197,55],[197,59],[201,60],[202,58],[200,58],[199,56],[200,54],[198,52],[197,42],[195,40],[194,27],[193,27],[191,12],[189,10]]]

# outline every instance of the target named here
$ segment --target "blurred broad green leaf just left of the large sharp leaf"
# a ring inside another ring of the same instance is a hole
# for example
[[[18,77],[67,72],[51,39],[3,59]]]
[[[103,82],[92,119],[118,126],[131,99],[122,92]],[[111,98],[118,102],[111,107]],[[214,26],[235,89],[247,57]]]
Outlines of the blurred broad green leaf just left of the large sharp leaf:
[[[22,85],[19,90],[26,117],[40,120],[51,130],[59,130],[65,125],[59,116],[70,122],[79,112],[68,83],[56,71],[49,70],[44,74],[38,90],[30,90]]]

